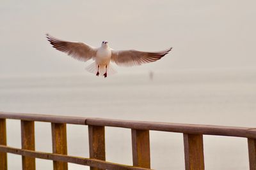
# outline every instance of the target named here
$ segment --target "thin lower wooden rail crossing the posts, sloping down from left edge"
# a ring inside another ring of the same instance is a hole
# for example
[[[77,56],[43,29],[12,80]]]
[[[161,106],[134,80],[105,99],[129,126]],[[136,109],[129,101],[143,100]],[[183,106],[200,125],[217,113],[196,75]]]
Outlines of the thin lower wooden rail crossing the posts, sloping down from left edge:
[[[81,157],[72,157],[68,155],[61,155],[56,153],[47,152],[36,152],[32,150],[22,150],[19,148],[12,148],[10,146],[0,145],[0,152],[14,153],[17,155],[22,155],[26,157],[33,157],[39,159],[48,159],[59,162],[70,162],[74,164],[80,164],[84,166],[100,167],[100,169],[116,169],[116,170],[148,170],[142,167],[126,166],[122,164],[115,164],[112,162],[106,162],[98,159],[88,159]]]

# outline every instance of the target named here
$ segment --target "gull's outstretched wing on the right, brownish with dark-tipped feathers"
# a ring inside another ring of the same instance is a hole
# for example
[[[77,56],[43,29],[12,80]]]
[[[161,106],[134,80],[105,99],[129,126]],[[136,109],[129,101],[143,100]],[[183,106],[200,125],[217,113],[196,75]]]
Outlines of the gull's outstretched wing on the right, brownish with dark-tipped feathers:
[[[160,52],[140,52],[136,50],[112,50],[111,60],[119,66],[139,66],[147,62],[161,59],[170,52],[172,48]]]

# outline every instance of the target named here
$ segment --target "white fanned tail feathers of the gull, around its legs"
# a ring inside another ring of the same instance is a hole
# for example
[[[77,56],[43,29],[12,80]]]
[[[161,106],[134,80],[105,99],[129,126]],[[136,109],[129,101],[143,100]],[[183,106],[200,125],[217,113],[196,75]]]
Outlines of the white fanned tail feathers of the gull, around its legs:
[[[98,71],[98,65],[96,64],[96,62],[93,62],[92,64],[87,66],[85,69],[86,69],[86,71],[89,71],[90,73],[96,74],[97,71]],[[117,73],[115,68],[110,63],[108,64],[107,71],[108,71],[108,75],[112,75],[112,74]],[[100,66],[99,67],[100,75],[103,76],[103,74],[105,72],[106,72],[106,67],[105,66]]]

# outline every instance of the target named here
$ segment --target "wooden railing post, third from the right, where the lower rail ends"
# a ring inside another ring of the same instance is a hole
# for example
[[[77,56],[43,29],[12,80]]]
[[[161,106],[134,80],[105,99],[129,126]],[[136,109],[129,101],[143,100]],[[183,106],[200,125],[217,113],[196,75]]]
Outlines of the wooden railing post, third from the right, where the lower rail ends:
[[[150,169],[150,141],[148,130],[132,129],[133,166]]]

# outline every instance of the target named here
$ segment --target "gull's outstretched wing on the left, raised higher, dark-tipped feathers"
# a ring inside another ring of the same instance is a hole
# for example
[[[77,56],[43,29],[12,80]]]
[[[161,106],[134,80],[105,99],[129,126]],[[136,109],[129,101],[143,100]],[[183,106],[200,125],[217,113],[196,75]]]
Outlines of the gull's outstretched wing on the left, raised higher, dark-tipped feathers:
[[[94,59],[96,56],[97,48],[94,48],[90,45],[86,45],[84,43],[62,41],[50,36],[49,34],[46,34],[46,37],[54,48],[61,52],[67,53],[77,60],[86,61]]]

